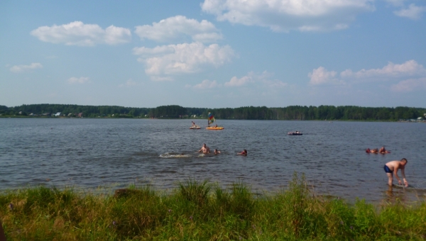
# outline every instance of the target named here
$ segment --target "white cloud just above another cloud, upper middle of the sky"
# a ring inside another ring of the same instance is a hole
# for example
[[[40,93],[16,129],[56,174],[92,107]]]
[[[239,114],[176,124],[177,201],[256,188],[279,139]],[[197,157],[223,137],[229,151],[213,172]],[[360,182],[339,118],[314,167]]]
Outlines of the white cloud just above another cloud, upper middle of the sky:
[[[153,25],[136,26],[136,35],[141,39],[149,39],[160,42],[179,40],[189,36],[192,41],[212,43],[222,39],[213,23],[202,20],[189,19],[185,16],[173,16],[161,20]]]

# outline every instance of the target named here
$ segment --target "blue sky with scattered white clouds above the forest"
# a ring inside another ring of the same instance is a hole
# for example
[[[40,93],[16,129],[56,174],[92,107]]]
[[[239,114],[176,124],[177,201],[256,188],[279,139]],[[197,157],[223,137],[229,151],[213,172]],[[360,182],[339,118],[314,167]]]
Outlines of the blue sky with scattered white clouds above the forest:
[[[1,1],[0,105],[426,107],[426,2]]]

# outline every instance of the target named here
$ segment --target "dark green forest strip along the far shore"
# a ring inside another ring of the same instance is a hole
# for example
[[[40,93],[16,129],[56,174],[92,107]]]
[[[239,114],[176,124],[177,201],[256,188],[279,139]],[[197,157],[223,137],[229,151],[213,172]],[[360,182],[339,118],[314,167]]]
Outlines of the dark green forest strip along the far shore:
[[[235,120],[408,120],[425,118],[426,108],[413,107],[360,107],[360,106],[288,106],[268,108],[247,106],[239,108],[187,108],[158,106],[156,108],[131,108],[122,106],[77,106],[64,104],[32,104],[0,106],[0,117],[60,116],[98,118],[207,118],[212,112],[218,119]]]

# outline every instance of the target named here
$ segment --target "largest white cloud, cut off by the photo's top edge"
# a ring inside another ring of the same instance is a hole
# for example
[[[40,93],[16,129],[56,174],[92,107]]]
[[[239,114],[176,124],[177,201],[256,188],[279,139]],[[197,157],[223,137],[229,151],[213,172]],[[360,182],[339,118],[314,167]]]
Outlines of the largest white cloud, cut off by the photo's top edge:
[[[273,31],[348,28],[359,13],[374,11],[372,0],[204,0],[202,10],[218,21],[263,26]]]

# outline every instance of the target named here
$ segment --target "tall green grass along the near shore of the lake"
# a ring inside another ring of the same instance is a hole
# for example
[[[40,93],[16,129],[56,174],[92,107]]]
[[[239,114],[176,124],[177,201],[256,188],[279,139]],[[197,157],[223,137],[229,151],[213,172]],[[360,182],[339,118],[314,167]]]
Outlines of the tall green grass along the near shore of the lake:
[[[12,203],[12,204],[11,204]],[[374,206],[315,196],[304,176],[254,196],[187,179],[171,193],[148,186],[116,195],[40,186],[0,193],[7,240],[424,240],[426,201]]]

